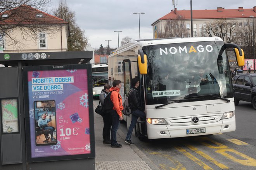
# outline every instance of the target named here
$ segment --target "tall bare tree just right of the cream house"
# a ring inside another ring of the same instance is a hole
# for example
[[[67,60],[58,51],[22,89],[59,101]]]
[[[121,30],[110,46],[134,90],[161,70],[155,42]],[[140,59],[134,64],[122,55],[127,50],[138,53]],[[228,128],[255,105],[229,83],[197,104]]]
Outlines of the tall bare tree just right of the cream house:
[[[69,23],[70,37],[68,37],[68,51],[83,51],[88,45],[88,38],[85,37],[85,31],[81,30],[76,24],[75,12],[71,11],[69,6],[62,0],[59,1],[59,6],[53,11],[54,15]]]

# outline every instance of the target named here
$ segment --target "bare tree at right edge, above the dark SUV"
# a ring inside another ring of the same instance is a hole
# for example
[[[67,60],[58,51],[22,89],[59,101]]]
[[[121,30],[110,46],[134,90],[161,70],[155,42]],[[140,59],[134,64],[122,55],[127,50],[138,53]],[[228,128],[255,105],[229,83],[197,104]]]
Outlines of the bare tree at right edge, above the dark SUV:
[[[247,58],[253,58],[253,31],[254,35],[256,34],[256,23],[254,23],[253,30],[253,22],[247,19],[247,26],[239,26],[237,29],[236,36],[237,39],[235,41],[236,44],[239,44],[244,50],[244,55]],[[250,24],[248,24],[250,23]],[[254,47],[256,45],[256,37],[254,37]],[[255,49],[254,49],[255,50]]]

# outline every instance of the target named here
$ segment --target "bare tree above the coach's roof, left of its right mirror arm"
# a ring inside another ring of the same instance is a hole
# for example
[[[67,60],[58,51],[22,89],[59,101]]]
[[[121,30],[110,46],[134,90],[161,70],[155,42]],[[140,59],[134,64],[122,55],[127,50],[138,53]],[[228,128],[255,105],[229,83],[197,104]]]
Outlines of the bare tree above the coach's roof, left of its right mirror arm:
[[[214,20],[214,22],[206,22],[202,26],[202,33],[201,34],[208,34],[209,37],[217,36],[221,37],[224,42],[231,43],[234,42],[237,38],[235,36],[235,21],[230,20],[227,22],[227,19],[219,19]],[[202,36],[202,35],[201,35]]]

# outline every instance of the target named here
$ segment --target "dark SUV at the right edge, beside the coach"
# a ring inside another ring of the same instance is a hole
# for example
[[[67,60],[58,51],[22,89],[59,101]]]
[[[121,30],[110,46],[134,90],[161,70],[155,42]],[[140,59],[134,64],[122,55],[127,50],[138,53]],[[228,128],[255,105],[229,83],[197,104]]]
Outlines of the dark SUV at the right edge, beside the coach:
[[[256,73],[239,73],[232,82],[235,105],[239,104],[239,100],[244,100],[251,102],[256,109]]]

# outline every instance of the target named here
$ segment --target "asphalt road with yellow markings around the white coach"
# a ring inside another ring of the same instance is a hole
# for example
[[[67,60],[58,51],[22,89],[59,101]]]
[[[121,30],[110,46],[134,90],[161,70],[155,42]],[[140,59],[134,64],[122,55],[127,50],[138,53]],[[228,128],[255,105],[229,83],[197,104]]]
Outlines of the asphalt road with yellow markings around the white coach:
[[[146,142],[132,136],[132,141],[163,170],[255,170],[256,110],[250,103],[240,102],[235,114],[235,132]],[[120,129],[126,133],[126,124]]]

